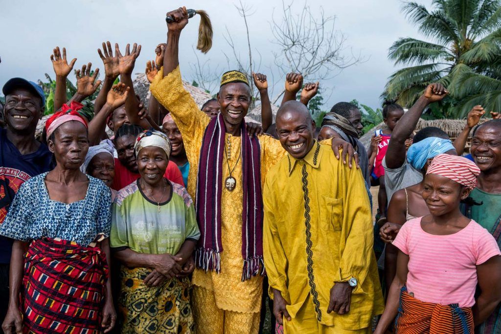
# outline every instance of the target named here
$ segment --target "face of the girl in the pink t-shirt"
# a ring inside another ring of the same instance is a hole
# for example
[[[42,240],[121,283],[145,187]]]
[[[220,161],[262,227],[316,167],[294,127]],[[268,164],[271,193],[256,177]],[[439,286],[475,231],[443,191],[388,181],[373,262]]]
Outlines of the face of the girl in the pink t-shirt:
[[[427,174],[424,179],[422,197],[433,216],[459,210],[459,203],[468,197],[469,188],[437,174]]]

